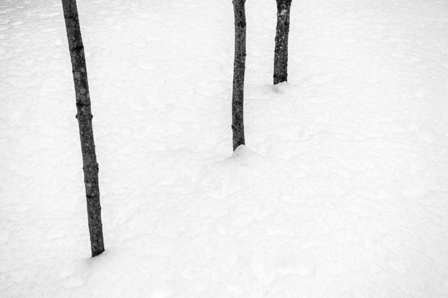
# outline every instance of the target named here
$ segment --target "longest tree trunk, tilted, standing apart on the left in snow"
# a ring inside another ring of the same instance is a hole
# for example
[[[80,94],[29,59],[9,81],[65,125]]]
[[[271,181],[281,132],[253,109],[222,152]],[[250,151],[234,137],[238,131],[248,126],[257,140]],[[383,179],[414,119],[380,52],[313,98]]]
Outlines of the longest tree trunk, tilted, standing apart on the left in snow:
[[[87,218],[90,232],[92,257],[104,252],[101,205],[99,204],[98,164],[92,131],[89,86],[85,67],[84,45],[79,27],[76,0],[62,0],[64,19],[69,40],[71,67],[75,83],[76,108],[83,153],[85,196],[87,198]]]

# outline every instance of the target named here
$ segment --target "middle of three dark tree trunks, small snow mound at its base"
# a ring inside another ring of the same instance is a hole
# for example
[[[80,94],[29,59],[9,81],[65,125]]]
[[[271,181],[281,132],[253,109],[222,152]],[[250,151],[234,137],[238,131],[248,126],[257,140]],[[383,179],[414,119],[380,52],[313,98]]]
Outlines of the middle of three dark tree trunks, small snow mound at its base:
[[[233,150],[244,141],[244,71],[246,70],[246,0],[233,0],[235,13],[235,60],[233,63],[232,132]]]

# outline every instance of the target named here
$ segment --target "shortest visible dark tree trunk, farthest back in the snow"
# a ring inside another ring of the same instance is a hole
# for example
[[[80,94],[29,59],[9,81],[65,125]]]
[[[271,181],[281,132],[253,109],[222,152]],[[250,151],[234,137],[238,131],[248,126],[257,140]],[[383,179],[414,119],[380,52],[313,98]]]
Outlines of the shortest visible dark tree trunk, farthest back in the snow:
[[[289,13],[292,0],[277,1],[277,27],[274,53],[274,85],[288,80]]]

